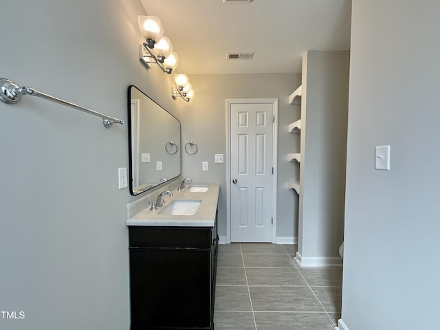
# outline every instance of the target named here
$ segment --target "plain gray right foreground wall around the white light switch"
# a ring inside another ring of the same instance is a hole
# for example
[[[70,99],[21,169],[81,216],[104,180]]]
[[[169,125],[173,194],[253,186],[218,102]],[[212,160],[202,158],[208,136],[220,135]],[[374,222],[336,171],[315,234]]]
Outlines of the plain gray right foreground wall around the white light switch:
[[[438,329],[440,2],[353,0],[342,320]],[[391,145],[391,170],[374,148]]]

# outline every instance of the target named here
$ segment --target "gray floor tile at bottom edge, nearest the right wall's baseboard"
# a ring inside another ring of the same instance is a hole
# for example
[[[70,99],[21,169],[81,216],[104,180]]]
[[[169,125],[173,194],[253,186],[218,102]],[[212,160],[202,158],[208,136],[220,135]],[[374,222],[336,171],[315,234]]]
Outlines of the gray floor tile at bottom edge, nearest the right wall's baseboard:
[[[325,313],[255,313],[259,330],[333,330]]]

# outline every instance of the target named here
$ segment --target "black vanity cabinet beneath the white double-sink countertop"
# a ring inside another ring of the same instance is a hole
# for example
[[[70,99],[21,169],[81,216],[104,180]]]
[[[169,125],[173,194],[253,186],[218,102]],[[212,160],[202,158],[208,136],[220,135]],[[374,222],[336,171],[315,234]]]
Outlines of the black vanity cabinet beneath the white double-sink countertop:
[[[214,227],[129,226],[131,330],[214,329]]]

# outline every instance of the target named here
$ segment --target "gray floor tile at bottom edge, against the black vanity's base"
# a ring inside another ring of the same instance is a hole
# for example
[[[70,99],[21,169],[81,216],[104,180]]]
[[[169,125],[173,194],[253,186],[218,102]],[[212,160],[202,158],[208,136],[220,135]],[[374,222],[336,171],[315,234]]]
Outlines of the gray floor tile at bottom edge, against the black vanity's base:
[[[214,330],[255,330],[252,312],[215,311]]]

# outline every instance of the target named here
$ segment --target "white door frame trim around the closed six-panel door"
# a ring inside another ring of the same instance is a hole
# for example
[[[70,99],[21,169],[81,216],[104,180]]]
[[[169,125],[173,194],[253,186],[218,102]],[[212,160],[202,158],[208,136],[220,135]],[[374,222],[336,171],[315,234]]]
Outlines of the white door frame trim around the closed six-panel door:
[[[274,116],[272,130],[272,243],[276,243],[276,178],[277,178],[277,157],[278,157],[278,98],[230,98],[226,99],[226,242],[231,243],[231,105],[232,104],[272,104],[272,115]]]

